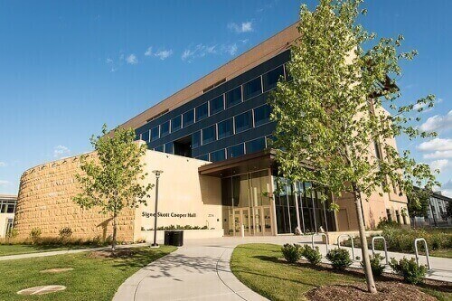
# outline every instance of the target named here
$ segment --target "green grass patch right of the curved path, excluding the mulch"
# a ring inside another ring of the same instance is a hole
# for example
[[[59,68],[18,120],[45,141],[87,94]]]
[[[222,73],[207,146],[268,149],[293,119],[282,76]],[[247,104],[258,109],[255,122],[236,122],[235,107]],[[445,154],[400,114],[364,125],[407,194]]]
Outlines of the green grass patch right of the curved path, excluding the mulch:
[[[281,258],[281,246],[278,245],[240,245],[232,253],[231,270],[246,286],[270,300],[306,300],[306,292],[315,287],[364,281],[363,277],[307,265],[289,265],[281,262]],[[425,292],[439,300],[452,299],[452,293]]]

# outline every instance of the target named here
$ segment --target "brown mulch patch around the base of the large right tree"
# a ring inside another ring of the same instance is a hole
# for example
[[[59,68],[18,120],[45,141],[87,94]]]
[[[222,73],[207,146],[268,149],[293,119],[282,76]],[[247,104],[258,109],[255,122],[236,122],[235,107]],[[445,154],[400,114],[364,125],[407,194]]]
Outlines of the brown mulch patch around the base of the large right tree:
[[[436,301],[418,287],[399,282],[377,282],[377,294],[367,292],[363,284],[325,286],[312,289],[306,296],[311,301]]]

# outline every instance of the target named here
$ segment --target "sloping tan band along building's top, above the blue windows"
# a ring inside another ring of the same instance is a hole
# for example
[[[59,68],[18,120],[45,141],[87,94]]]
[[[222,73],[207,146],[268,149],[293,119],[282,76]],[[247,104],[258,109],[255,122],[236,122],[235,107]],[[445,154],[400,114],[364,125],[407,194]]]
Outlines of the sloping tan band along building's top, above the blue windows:
[[[184,89],[175,92],[155,106],[138,114],[135,118],[129,119],[119,127],[142,127],[146,124],[147,120],[155,118],[162,113],[165,113],[165,111],[180,107],[184,105],[184,103],[201,96],[204,89],[231,80],[246,71],[250,71],[260,63],[268,61],[279,53],[286,51],[299,37],[297,24],[298,22],[288,26],[281,32],[268,38],[266,41],[259,43],[259,45],[251,48],[249,51],[240,54],[237,58],[205,75],[200,80],[194,81]]]

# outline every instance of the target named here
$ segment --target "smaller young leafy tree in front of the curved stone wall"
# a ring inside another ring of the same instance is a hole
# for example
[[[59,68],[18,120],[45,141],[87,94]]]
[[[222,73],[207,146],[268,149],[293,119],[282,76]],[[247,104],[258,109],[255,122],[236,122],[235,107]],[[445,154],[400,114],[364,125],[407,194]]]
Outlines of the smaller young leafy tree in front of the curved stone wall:
[[[99,208],[109,214],[113,222],[111,249],[116,249],[117,219],[124,208],[136,208],[139,202],[146,203],[152,184],[142,185],[146,178],[141,156],[146,154],[146,145],[134,142],[133,129],[116,128],[108,133],[102,127],[101,136],[91,136],[90,142],[96,153],[81,157],[80,169],[76,174],[82,193],[73,198],[82,208]]]

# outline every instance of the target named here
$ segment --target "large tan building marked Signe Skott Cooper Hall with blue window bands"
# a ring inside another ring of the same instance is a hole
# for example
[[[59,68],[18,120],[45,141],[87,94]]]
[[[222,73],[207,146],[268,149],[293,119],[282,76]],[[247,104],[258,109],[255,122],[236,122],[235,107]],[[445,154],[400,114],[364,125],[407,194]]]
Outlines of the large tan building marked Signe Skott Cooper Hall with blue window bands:
[[[164,171],[161,183],[168,186],[160,190],[159,225],[203,227],[210,231],[205,235],[220,236],[241,235],[242,227],[245,235],[293,233],[297,227],[304,232],[357,229],[351,195],[338,201],[339,212],[327,211],[320,195],[306,193],[311,183],[278,178],[268,149],[275,128],[269,120],[268,94],[278,80],[288,80],[285,65],[297,37],[293,24],[121,125],[134,128],[137,141],[146,143],[147,166]],[[393,139],[386,143],[395,146]],[[378,143],[370,147],[382,154]],[[89,212],[87,220],[71,203],[78,158],[68,160],[25,172],[16,222],[22,235],[31,224],[45,225],[43,233],[70,226],[77,228],[74,233],[89,236],[99,233],[99,225],[108,225],[96,212]],[[274,194],[277,188],[282,193]],[[366,227],[374,228],[406,207],[396,187],[383,196],[374,193],[363,202]],[[154,208],[153,199],[148,207],[123,215],[120,235],[122,231],[127,240],[146,238],[153,220],[149,208]]]

